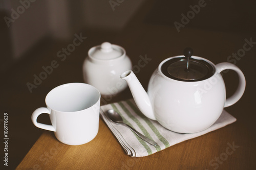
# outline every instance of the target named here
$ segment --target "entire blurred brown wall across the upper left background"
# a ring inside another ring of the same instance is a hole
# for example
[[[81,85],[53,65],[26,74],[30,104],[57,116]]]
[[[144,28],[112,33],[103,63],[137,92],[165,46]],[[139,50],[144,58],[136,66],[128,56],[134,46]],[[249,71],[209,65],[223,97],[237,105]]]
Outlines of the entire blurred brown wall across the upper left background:
[[[0,71],[46,36],[69,40],[84,27],[121,30],[144,1],[0,0],[0,43],[4,51]]]

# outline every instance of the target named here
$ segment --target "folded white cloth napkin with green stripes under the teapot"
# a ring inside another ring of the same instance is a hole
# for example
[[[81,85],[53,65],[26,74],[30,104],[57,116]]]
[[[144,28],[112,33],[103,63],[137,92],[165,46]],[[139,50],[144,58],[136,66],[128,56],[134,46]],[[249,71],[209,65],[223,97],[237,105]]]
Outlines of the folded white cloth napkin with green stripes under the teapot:
[[[122,116],[125,124],[130,125],[140,133],[144,134],[146,137],[156,141],[158,145],[153,146],[148,144],[133,133],[129,128],[111,122],[111,120],[103,113],[109,109],[114,109],[117,111]],[[100,115],[112,133],[116,136],[127,155],[131,155],[132,157],[143,157],[154,154],[174,144],[222,128],[236,122],[237,120],[223,110],[216,123],[208,129],[197,133],[181,134],[169,131],[162,127],[157,121],[145,117],[137,108],[134,100],[127,100],[101,106]]]

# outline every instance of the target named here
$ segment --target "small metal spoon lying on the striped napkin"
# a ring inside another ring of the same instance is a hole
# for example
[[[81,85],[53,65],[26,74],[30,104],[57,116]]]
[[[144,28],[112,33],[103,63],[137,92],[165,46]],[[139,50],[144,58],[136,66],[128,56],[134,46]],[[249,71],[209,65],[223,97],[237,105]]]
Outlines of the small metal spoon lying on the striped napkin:
[[[124,124],[122,117],[115,110],[110,109],[110,110],[106,111],[106,115],[110,118],[110,120],[112,122],[119,124],[119,125],[124,125],[124,126],[130,128],[136,135],[138,135],[141,139],[143,139],[147,143],[150,143],[154,146],[157,145],[157,142],[155,142],[151,139],[148,139],[146,136],[142,135],[141,133],[139,133],[138,131],[133,129],[131,126]]]

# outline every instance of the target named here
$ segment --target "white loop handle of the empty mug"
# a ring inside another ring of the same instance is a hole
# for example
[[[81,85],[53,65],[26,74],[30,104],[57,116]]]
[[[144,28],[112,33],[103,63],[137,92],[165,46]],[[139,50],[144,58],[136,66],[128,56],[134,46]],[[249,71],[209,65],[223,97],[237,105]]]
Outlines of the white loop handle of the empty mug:
[[[46,124],[41,124],[37,122],[37,117],[42,114],[42,113],[47,113],[47,114],[51,114],[51,112],[49,111],[49,109],[47,109],[46,107],[40,107],[38,109],[36,109],[31,116],[32,122],[33,124],[37,127],[37,128],[41,128],[41,129],[45,129],[48,131],[53,131],[55,132],[56,130],[54,129],[54,127],[52,125],[46,125]]]

